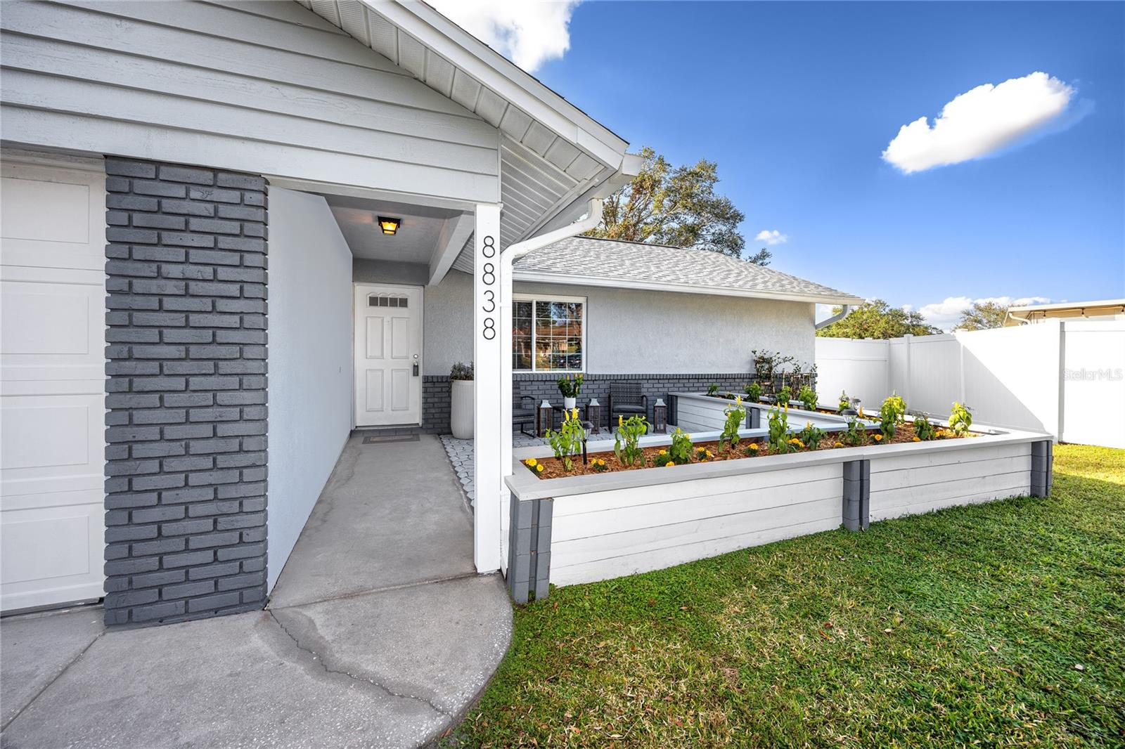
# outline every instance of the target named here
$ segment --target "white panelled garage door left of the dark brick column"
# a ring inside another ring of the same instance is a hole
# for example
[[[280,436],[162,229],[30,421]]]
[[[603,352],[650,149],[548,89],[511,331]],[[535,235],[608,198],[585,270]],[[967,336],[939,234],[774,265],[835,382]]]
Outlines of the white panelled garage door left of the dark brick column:
[[[0,164],[0,608],[102,595],[100,166]]]

